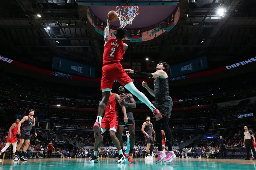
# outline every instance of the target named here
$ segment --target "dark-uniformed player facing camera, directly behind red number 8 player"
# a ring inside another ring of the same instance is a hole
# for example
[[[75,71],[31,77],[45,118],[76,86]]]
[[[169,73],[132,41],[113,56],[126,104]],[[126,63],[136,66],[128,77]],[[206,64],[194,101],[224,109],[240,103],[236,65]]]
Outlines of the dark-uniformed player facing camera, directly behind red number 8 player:
[[[127,123],[124,122],[124,113],[122,112],[121,107],[119,107],[118,128],[117,128],[116,135],[121,144],[121,148],[123,150],[122,135],[124,132],[124,127],[126,126],[128,128],[129,134],[130,134],[130,151],[129,151],[127,157],[128,157],[129,162],[133,162],[133,153],[132,152],[133,152],[133,147],[135,144],[135,121],[134,121],[134,117],[132,114],[132,108],[136,108],[136,103],[135,103],[135,100],[133,99],[133,96],[131,93],[125,93],[123,86],[120,86],[118,88],[118,92],[119,92],[119,96],[121,98],[119,100],[119,102],[125,106],[128,122]],[[123,152],[124,152],[124,150],[123,150]]]

